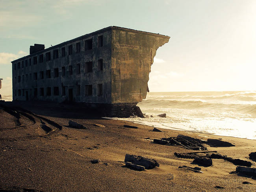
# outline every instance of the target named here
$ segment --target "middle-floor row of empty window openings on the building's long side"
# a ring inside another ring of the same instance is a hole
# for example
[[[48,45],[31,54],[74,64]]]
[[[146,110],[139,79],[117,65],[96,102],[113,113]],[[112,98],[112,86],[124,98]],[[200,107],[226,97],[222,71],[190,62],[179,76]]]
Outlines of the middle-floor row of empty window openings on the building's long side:
[[[103,70],[103,60],[99,59],[98,60],[98,70]],[[80,74],[80,64],[76,64],[76,74]],[[89,73],[89,72],[93,72],[93,62],[87,62],[85,63],[85,73]],[[65,76],[65,66],[63,66],[61,68],[61,76]],[[73,68],[72,65],[69,65],[69,75],[73,74]],[[44,71],[40,71],[39,72],[39,78],[40,79],[44,79]],[[59,77],[59,68],[54,68],[54,78],[58,78]],[[51,70],[46,70],[46,78],[49,79],[51,78]],[[22,79],[23,81],[24,79],[24,75],[22,75]],[[30,74],[30,79],[32,79],[32,74]],[[37,72],[33,73],[33,79],[37,80]],[[18,76],[18,83],[21,81],[20,76]],[[28,74],[26,74],[26,81],[28,81]],[[16,77],[15,77],[15,82],[16,82]]]

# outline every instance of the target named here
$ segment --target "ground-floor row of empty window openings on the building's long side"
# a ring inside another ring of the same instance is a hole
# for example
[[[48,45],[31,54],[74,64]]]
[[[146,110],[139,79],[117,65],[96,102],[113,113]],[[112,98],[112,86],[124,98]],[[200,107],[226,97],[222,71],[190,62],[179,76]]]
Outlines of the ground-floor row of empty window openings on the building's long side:
[[[24,96],[24,89],[22,89],[22,96]],[[102,96],[102,83],[97,84],[97,96]],[[15,96],[17,95],[15,90]],[[51,96],[51,87],[46,87],[46,96]],[[59,96],[59,87],[53,87],[53,95]],[[66,95],[65,87],[62,87],[62,96]],[[76,96],[81,95],[81,86],[76,85]],[[21,89],[18,89],[18,96],[21,96]],[[37,88],[34,88],[34,96],[37,96]],[[39,88],[39,96],[45,96],[44,88]],[[85,96],[93,96],[93,85],[85,85]]]

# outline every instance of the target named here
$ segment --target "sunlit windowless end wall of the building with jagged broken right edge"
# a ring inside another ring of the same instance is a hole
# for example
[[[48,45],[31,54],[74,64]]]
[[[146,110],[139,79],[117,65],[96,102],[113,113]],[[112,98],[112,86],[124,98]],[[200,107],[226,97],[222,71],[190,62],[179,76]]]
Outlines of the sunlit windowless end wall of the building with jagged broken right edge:
[[[111,103],[141,102],[156,50],[170,37],[122,28],[113,28],[111,37]]]

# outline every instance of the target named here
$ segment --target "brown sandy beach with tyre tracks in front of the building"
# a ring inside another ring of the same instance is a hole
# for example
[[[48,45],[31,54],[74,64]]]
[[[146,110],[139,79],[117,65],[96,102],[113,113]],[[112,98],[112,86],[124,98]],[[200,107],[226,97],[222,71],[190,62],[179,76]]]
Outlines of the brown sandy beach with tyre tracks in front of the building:
[[[193,150],[153,143],[154,138],[165,137],[163,132],[150,131],[153,127],[103,119],[95,112],[77,110],[68,104],[5,102],[4,105],[22,107],[23,112],[17,118],[0,106],[0,191],[256,191],[254,177],[230,174],[236,170],[231,162],[213,159],[212,166],[198,166],[191,164],[193,159],[174,155]],[[88,129],[69,127],[69,120]],[[202,140],[221,138],[235,146],[206,145],[208,150],[250,161],[256,167],[255,161],[249,159],[249,153],[256,151],[256,140],[162,130],[170,137],[182,134]],[[160,166],[132,170],[125,166],[126,154],[155,159]],[[100,162],[92,164],[92,159]],[[178,168],[184,165],[198,166],[203,173]],[[243,184],[245,181],[249,184]]]

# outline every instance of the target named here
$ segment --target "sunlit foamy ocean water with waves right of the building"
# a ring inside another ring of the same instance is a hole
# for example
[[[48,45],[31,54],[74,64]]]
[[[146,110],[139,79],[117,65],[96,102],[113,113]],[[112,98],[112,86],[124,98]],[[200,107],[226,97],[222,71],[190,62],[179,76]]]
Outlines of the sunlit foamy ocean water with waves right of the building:
[[[256,140],[256,91],[150,92],[137,106],[146,118],[116,119]]]

